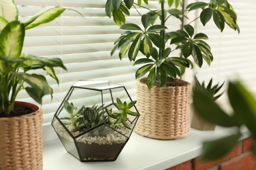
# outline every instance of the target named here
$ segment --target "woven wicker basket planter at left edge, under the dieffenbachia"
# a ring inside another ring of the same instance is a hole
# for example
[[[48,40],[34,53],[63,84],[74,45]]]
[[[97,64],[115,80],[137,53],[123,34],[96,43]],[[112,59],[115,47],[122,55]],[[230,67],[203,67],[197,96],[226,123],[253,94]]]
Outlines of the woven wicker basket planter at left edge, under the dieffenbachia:
[[[16,102],[35,112],[0,118],[0,169],[43,169],[42,110],[36,105]]]

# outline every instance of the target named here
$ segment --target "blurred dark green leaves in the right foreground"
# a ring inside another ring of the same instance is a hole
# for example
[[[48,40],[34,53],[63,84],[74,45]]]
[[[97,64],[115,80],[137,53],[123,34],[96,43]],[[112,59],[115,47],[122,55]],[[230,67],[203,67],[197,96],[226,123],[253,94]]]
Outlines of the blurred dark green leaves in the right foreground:
[[[246,127],[253,138],[249,149],[256,156],[256,99],[253,93],[239,80],[228,82],[227,97],[230,110],[225,110],[213,100],[211,95],[202,88],[195,88],[193,106],[200,117],[223,127],[234,127],[234,134],[221,139],[203,142],[202,160],[217,160],[223,158],[240,141],[242,131]]]

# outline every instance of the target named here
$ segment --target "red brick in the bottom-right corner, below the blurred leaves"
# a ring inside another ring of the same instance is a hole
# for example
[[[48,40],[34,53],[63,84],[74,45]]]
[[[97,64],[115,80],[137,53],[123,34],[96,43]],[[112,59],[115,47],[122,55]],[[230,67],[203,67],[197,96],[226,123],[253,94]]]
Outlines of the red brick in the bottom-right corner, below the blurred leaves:
[[[256,160],[252,154],[242,154],[221,165],[220,170],[256,170]]]

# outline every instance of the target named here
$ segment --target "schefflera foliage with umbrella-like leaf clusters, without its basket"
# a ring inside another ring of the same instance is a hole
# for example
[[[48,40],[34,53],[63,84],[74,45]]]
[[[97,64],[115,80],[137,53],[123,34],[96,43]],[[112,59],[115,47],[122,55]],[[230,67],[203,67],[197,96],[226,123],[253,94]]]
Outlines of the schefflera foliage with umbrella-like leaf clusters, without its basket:
[[[240,32],[236,23],[236,12],[227,0],[211,0],[209,3],[199,1],[186,7],[183,5],[184,1],[159,0],[160,9],[156,10],[150,9],[149,3],[148,0],[107,0],[105,6],[107,16],[113,16],[120,29],[127,30],[115,42],[111,55],[119,50],[120,59],[127,54],[129,60],[134,61],[134,65],[142,64],[135,76],[140,78],[148,73],[146,84],[149,89],[156,81],[160,82],[160,86],[164,86],[167,76],[174,79],[181,76],[185,68],[192,67],[190,56],[198,67],[202,67],[203,61],[208,65],[213,61],[211,47],[205,42],[207,35],[195,33],[192,22],[200,20],[206,25],[213,18],[221,31],[226,24]],[[166,6],[169,8],[166,9]],[[139,13],[142,27],[133,23],[126,24],[125,17],[130,15],[129,10],[138,8],[148,10],[146,14]],[[193,10],[201,12],[190,21],[185,12]],[[181,29],[167,32],[167,21],[170,18],[177,18],[181,22]],[[158,19],[160,24],[156,24]],[[184,20],[188,20],[188,24],[184,25]],[[176,47],[172,49],[169,44]],[[172,56],[175,50],[181,50],[181,56]],[[143,57],[139,58],[139,54]]]

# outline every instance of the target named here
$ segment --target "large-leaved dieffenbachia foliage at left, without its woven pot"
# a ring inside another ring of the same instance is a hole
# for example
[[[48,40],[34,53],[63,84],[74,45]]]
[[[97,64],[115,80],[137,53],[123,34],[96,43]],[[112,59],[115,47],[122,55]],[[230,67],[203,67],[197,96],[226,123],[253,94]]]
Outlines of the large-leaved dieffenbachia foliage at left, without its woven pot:
[[[66,9],[54,7],[35,14],[28,20],[18,20],[18,9],[13,0],[0,1],[0,116],[8,116],[20,90],[25,89],[37,103],[53,89],[44,75],[29,71],[43,69],[58,83],[54,67],[66,70],[59,58],[41,58],[22,52],[26,29],[51,22]]]

